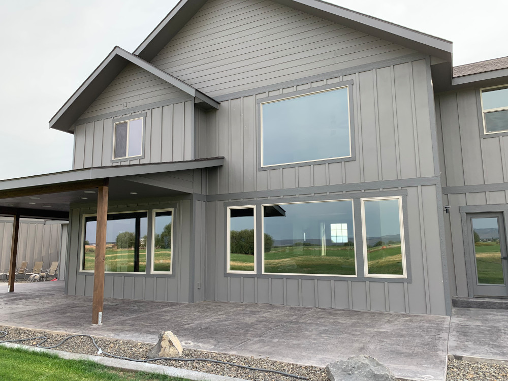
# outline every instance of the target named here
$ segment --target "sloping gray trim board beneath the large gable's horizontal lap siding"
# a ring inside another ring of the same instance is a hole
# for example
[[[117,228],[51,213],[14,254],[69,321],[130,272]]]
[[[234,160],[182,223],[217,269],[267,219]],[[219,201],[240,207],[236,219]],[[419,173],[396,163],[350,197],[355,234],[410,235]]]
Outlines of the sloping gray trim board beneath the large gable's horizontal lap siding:
[[[224,102],[224,101],[228,101],[230,99],[248,97],[248,96],[260,94],[263,92],[279,90],[281,88],[293,87],[293,86],[298,86],[298,85],[302,85],[305,83],[323,81],[325,79],[342,77],[342,76],[346,76],[346,75],[350,75],[350,74],[365,72],[368,70],[385,68],[388,66],[399,65],[400,63],[405,63],[405,62],[409,62],[409,61],[417,61],[419,59],[425,59],[426,57],[428,57],[428,56],[424,55],[422,53],[407,54],[407,55],[404,55],[404,56],[398,57],[398,58],[391,58],[391,59],[385,59],[384,61],[365,63],[364,65],[358,65],[358,66],[353,66],[351,68],[334,70],[331,72],[327,72],[327,73],[323,73],[323,74],[316,74],[316,75],[312,75],[312,76],[308,76],[308,77],[294,79],[291,81],[274,83],[273,85],[256,87],[256,88],[253,88],[250,90],[231,92],[229,94],[217,96],[217,97],[215,97],[215,99],[217,100],[217,102]]]

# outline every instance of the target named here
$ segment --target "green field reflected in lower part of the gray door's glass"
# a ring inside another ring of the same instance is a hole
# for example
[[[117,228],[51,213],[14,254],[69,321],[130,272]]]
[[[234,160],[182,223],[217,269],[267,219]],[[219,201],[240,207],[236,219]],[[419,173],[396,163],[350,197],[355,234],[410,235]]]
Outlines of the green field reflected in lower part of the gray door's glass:
[[[474,251],[476,252],[478,283],[504,284],[499,243],[477,242],[474,244]]]

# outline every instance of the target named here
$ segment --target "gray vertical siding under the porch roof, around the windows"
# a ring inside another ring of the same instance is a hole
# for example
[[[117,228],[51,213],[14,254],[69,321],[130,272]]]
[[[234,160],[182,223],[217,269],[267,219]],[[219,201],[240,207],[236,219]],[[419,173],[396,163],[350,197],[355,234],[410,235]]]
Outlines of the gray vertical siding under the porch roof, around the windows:
[[[173,216],[173,275],[150,274],[151,267],[151,226],[153,209],[175,207]],[[108,212],[148,210],[147,261],[146,274],[106,273],[104,296],[115,299],[156,300],[171,302],[189,302],[190,248],[192,234],[192,200],[167,198],[164,200],[145,200],[128,205],[110,204]],[[81,234],[83,214],[96,213],[97,209],[80,204],[71,205],[71,244],[68,251],[69,273],[66,282],[66,294],[92,296],[93,272],[80,271]]]

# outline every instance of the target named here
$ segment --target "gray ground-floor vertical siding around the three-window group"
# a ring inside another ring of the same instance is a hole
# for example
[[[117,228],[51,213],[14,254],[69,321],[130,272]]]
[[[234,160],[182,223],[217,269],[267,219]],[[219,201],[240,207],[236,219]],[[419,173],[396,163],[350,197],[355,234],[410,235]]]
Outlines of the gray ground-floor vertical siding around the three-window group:
[[[407,192],[407,226],[411,281],[320,279],[298,274],[291,277],[244,274],[226,276],[226,207],[224,201],[207,202],[206,300],[269,303],[354,310],[446,314],[437,221],[436,185],[396,188]],[[372,189],[372,190],[394,190]],[[375,197],[377,192],[365,197]],[[347,192],[326,193],[343,196]],[[378,194],[377,194],[378,195]],[[319,197],[300,196],[302,202]],[[269,203],[284,198],[270,198]],[[231,200],[239,201],[239,200]],[[356,257],[362,256],[356,242]],[[363,269],[358,268],[362,274]]]

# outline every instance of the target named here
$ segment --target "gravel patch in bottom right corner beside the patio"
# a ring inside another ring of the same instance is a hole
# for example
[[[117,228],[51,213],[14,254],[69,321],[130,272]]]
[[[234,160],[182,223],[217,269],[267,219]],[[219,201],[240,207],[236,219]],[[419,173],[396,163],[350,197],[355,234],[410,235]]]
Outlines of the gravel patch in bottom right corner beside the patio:
[[[508,380],[508,365],[448,360],[446,379],[447,381],[505,381]]]

